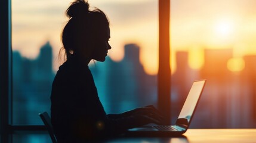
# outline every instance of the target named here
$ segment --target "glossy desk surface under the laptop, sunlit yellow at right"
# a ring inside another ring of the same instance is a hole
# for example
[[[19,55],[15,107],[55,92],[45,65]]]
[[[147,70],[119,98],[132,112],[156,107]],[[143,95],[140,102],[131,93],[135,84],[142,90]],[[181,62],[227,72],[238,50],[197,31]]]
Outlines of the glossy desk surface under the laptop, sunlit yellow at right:
[[[256,129],[188,129],[184,137],[173,138],[115,138],[107,142],[169,142],[169,143],[256,143]]]

